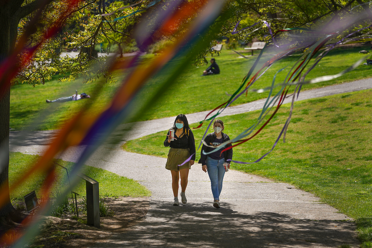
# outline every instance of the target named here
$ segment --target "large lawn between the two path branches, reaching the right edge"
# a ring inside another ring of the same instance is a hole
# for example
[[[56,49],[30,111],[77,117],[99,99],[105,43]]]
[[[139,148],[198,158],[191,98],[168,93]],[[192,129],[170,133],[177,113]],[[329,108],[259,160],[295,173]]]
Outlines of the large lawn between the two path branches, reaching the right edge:
[[[269,151],[289,108],[289,104],[283,105],[259,135],[234,148],[233,159],[253,162]],[[251,126],[258,115],[259,111],[254,111],[221,119],[225,122],[225,132],[235,137]],[[371,128],[372,90],[296,102],[286,143],[280,141],[259,163],[232,163],[231,168],[290,183],[316,194],[323,202],[356,219],[362,247],[372,247]],[[204,131],[193,131],[196,145]],[[148,135],[128,141],[123,147],[127,151],[166,157],[169,148],[163,146],[165,135],[166,131]]]

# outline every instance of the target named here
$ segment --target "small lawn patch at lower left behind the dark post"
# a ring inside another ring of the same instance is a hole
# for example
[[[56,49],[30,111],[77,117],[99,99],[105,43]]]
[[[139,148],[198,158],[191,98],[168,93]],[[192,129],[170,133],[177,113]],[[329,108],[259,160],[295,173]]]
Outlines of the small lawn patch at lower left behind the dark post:
[[[11,152],[9,161],[9,184],[10,186],[19,178],[19,175],[25,172],[33,161],[39,158],[38,155],[26,155],[20,152]],[[62,160],[57,160],[57,163],[70,168],[74,163],[66,162]],[[56,168],[57,174],[62,175],[61,178],[66,177],[66,171],[60,167]],[[131,197],[141,197],[150,196],[151,193],[144,186],[137,183],[132,179],[119,176],[110,171],[106,171],[100,168],[85,166],[84,173],[89,177],[97,180],[99,182],[99,194],[100,197],[121,197],[121,196],[131,196]],[[41,174],[33,175],[31,178],[26,180],[17,190],[10,193],[10,199],[23,200],[23,196],[36,190],[36,196],[40,197],[40,187],[44,182],[45,177]],[[63,180],[58,180],[62,182]],[[66,185],[61,185],[60,183],[55,187],[55,190],[63,190]],[[76,193],[81,196],[86,195],[85,181],[77,185],[73,189]]]

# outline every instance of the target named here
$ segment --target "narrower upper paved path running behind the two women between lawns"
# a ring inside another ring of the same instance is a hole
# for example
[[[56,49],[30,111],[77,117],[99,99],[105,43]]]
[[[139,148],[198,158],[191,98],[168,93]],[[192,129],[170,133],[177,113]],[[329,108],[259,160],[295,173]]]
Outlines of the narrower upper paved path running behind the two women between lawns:
[[[347,93],[358,90],[366,90],[372,88],[372,78],[357,80],[350,83],[338,84],[333,86],[327,86],[323,88],[317,88],[313,90],[301,91],[296,101],[312,99],[315,97],[331,96],[334,94]],[[265,94],[265,93],[262,93]],[[250,103],[245,103],[237,106],[228,107],[219,116],[237,115],[246,113],[254,110],[262,109],[262,106],[266,99],[257,100]],[[290,103],[292,98],[289,97],[284,100],[284,103]],[[189,123],[197,123],[204,119],[204,117],[210,112],[203,111],[198,113],[187,114],[187,120]],[[119,143],[127,140],[141,138],[152,133],[161,132],[170,128],[173,125],[176,116],[166,117],[156,120],[148,120],[144,122],[135,122],[130,124],[124,124],[119,126],[116,133],[125,133]],[[26,154],[38,154],[42,151],[42,146],[47,145],[49,139],[55,134],[56,130],[49,131],[12,131],[10,132],[10,145],[13,151],[20,151]],[[42,145],[39,147],[39,145]],[[17,148],[18,147],[18,148]]]

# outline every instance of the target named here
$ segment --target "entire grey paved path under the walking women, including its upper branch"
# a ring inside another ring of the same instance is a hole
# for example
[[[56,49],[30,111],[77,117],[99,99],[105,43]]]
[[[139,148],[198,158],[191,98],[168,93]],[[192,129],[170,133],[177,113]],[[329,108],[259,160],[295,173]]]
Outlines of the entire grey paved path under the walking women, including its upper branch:
[[[299,100],[372,88],[372,80],[304,91]],[[305,98],[307,96],[307,98]],[[229,108],[224,115],[259,109],[262,101]],[[187,115],[190,123],[205,113]],[[174,117],[137,123],[126,139],[169,128]],[[140,127],[140,128],[138,128]],[[151,128],[148,128],[151,127]],[[145,130],[141,132],[139,130]],[[12,151],[38,154],[54,131],[27,134],[11,132]],[[81,148],[60,155],[76,161]],[[238,171],[225,174],[221,209],[212,207],[208,174],[193,165],[186,190],[186,205],[172,206],[171,175],[166,159],[101,147],[87,162],[125,177],[134,178],[153,193],[151,209],[139,225],[127,233],[113,233],[106,243],[90,247],[359,247],[356,225],[347,216],[322,204],[318,197],[294,186]],[[341,220],[341,221],[340,221]]]

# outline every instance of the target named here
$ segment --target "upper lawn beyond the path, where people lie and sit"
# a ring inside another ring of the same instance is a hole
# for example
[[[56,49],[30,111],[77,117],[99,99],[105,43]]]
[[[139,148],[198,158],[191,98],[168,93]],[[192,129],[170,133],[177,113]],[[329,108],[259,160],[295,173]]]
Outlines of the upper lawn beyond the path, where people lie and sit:
[[[362,49],[364,48],[336,49],[331,51],[312,70],[307,78],[339,73],[356,62],[357,59],[364,56],[358,53]],[[246,55],[248,54],[246,53]],[[151,56],[147,55],[147,59],[151,59]],[[195,113],[213,109],[222,102],[225,102],[229,99],[225,92],[234,93],[254,62],[254,58],[244,59],[238,57],[239,55],[235,52],[223,49],[221,55],[216,56],[216,62],[221,68],[221,74],[219,75],[201,77],[202,71],[206,66],[200,68],[190,66],[186,69],[185,73],[180,73],[179,77],[174,79],[174,84],[168,91],[164,92],[163,97],[152,103],[151,108],[147,109],[146,112],[141,113],[139,120],[158,119],[178,115],[179,113]],[[285,78],[289,68],[291,68],[298,58],[299,56],[296,55],[276,62],[252,88],[269,86],[272,83],[274,74],[280,68],[288,66],[277,76],[276,82],[282,82],[281,80]],[[207,59],[209,60],[209,57]],[[371,68],[366,65],[360,65],[356,70],[340,78],[328,82],[305,85],[303,89],[306,90],[368,78],[372,75]],[[157,82],[161,80],[161,75],[152,78],[137,97],[137,101],[143,102],[143,99],[146,99],[149,94],[153,93]],[[31,129],[36,130],[57,129],[64,120],[67,120],[71,115],[76,113],[86,101],[94,101],[92,113],[97,113],[105,107],[106,103],[110,102],[120,83],[103,84],[100,93],[94,94],[94,88],[97,84],[99,83],[81,84],[79,80],[76,82],[52,80],[36,87],[31,87],[31,85],[27,84],[13,86],[10,96],[10,128],[21,130],[30,129],[31,126]],[[70,96],[74,94],[75,89],[78,92],[90,94],[92,98],[65,103],[47,104],[45,102],[46,99],[53,100],[62,96]],[[266,97],[264,93],[250,93],[247,97],[241,96],[232,105],[247,103],[264,97]]]

